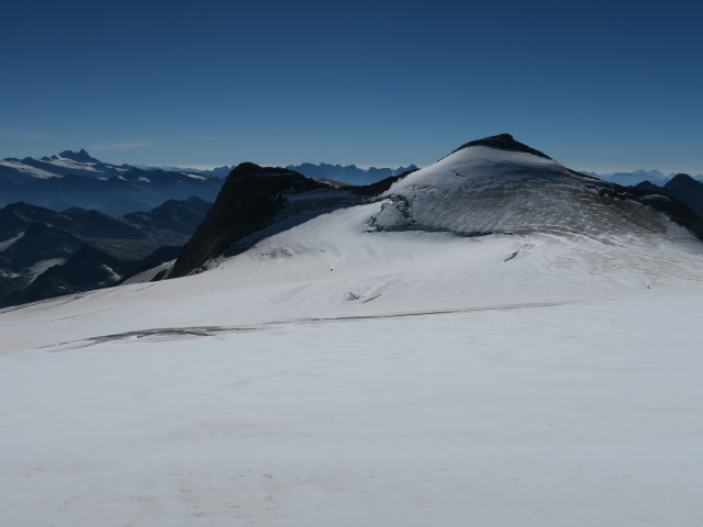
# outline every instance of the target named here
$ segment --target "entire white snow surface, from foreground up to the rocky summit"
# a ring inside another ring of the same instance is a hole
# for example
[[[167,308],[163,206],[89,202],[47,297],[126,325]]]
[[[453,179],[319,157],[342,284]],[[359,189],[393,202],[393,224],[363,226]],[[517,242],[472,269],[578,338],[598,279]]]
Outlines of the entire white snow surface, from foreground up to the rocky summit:
[[[702,525],[702,246],[590,184],[470,147],[203,273],[0,312],[4,522]]]

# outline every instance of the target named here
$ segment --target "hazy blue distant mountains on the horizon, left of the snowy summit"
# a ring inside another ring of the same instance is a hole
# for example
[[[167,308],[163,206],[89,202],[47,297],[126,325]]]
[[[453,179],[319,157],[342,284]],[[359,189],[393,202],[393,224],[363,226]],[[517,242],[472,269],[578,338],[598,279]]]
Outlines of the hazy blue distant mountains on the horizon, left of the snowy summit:
[[[366,170],[354,165],[306,162],[289,168],[310,178],[368,184],[416,167],[371,167]],[[199,170],[111,165],[96,159],[85,149],[65,150],[40,159],[7,158],[0,160],[0,206],[23,202],[53,211],[78,206],[126,214],[191,195],[214,201],[223,178],[233,169],[227,166]]]

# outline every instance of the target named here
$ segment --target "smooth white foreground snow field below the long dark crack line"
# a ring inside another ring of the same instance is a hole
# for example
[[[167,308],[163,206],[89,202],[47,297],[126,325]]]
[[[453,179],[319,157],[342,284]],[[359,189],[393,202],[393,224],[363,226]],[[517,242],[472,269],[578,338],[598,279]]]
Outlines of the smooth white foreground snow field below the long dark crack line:
[[[3,515],[37,526],[700,525],[699,299],[7,355]]]

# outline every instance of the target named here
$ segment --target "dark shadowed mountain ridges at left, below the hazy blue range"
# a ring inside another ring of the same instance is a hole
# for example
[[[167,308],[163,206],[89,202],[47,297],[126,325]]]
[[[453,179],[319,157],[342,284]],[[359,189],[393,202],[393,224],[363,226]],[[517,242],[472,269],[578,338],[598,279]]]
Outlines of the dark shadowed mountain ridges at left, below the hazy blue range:
[[[0,209],[0,306],[113,285],[172,260],[210,206],[193,197],[116,216],[7,205]]]

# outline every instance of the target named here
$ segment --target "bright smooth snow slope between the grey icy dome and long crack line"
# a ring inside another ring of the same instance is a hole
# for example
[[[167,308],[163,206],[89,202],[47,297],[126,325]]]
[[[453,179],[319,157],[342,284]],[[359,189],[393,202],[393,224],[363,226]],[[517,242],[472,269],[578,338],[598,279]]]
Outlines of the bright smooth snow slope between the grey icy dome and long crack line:
[[[703,278],[701,244],[676,225],[666,236],[604,238],[375,231],[383,204],[319,216],[201,274],[5,311],[4,347],[135,329],[576,302]],[[66,316],[81,323],[67,325]]]

